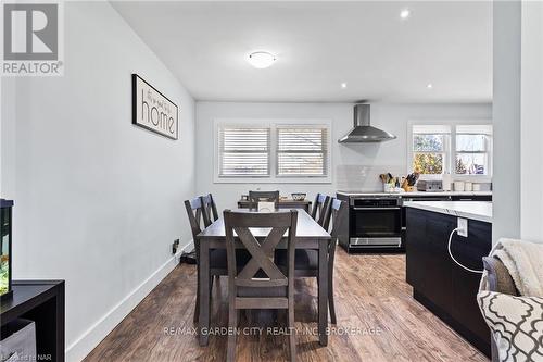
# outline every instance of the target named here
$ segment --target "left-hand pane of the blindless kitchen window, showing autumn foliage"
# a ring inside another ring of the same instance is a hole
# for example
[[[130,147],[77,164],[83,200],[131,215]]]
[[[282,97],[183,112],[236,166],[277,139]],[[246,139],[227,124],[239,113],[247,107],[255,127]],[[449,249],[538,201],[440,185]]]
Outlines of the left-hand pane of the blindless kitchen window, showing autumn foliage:
[[[424,175],[441,175],[447,162],[449,126],[413,126],[413,170]]]

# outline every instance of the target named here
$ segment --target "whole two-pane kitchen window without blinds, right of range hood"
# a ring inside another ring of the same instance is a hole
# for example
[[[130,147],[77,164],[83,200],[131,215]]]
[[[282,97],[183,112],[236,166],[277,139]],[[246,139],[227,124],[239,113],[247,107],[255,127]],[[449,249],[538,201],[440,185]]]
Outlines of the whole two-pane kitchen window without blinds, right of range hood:
[[[492,125],[413,125],[409,164],[422,178],[491,176]]]

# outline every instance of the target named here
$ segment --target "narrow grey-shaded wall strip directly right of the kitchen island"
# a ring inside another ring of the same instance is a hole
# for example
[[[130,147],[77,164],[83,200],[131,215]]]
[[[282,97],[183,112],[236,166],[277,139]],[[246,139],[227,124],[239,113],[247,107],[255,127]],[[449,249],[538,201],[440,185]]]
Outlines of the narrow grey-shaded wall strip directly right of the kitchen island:
[[[493,2],[492,238],[520,236],[520,1]]]

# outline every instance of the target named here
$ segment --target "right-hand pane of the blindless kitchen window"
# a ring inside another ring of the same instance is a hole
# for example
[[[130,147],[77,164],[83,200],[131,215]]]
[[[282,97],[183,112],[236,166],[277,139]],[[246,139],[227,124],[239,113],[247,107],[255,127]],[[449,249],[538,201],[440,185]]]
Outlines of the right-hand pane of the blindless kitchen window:
[[[492,126],[460,125],[456,127],[457,175],[488,175]]]

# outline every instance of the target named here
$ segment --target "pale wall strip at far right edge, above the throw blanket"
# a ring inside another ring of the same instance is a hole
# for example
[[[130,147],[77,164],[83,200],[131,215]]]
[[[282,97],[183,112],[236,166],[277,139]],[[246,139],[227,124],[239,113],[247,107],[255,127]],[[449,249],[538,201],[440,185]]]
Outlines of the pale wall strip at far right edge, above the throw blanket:
[[[543,3],[522,2],[521,38],[520,236],[543,241]]]

